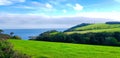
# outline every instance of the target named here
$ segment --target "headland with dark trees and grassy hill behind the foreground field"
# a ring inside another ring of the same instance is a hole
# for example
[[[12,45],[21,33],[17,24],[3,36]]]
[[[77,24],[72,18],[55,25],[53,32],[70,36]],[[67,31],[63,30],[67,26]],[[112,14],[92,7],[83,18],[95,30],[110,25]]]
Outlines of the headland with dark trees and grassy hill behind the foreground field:
[[[46,31],[33,40],[120,46],[120,24],[118,22],[82,23],[64,32]]]

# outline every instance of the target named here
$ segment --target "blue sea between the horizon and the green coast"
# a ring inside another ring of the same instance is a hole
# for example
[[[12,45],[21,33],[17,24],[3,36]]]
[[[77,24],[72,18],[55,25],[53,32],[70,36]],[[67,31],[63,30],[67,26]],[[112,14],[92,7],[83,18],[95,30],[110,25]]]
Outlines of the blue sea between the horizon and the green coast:
[[[49,30],[57,30],[64,31],[67,28],[59,28],[59,29],[3,29],[4,33],[10,34],[10,32],[14,32],[14,35],[20,36],[24,40],[28,40],[29,36],[37,36],[45,31]]]

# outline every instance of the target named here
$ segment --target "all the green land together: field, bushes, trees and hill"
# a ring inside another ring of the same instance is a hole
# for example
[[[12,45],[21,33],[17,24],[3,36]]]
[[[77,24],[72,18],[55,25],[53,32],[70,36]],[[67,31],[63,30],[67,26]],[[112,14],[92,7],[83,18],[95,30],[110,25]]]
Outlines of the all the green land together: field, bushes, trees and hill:
[[[0,58],[120,58],[119,22],[82,23],[29,38],[0,30]]]

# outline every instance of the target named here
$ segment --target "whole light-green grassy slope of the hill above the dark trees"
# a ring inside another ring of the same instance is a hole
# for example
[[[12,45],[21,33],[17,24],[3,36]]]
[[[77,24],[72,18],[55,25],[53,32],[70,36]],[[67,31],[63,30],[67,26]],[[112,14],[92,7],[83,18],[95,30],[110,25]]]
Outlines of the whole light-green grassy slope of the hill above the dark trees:
[[[91,24],[76,27],[67,33],[87,33],[87,32],[120,32],[120,24]]]

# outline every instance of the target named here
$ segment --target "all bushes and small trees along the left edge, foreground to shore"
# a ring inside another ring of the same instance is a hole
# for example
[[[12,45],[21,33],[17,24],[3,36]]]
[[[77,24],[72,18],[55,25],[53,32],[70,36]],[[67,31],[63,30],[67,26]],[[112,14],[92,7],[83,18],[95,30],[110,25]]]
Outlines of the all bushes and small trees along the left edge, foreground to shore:
[[[0,58],[31,58],[26,54],[13,50],[12,44],[8,42],[8,40],[13,37],[8,34],[3,34],[2,32],[0,33]]]

